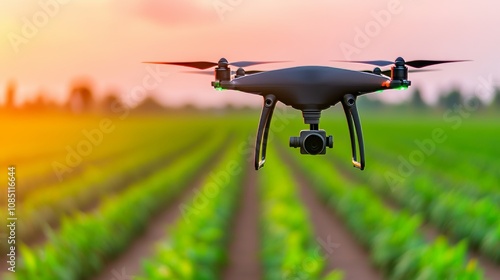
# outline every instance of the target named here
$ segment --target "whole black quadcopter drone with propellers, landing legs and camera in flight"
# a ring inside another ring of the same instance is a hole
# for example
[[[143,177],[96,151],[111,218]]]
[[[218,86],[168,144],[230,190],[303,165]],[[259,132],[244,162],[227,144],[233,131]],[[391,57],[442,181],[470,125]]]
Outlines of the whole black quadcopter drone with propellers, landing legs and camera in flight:
[[[245,71],[243,67],[275,62],[238,61],[229,63],[225,58],[221,58],[217,63],[209,61],[146,63],[177,65],[199,70],[215,67],[215,80],[211,83],[215,89],[237,90],[262,96],[264,104],[255,144],[255,170],[262,168],[266,161],[269,127],[278,101],[302,111],[304,123],[309,125],[309,130],[300,131],[299,137],[290,137],[290,147],[300,148],[301,154],[309,155],[324,155],[327,147],[333,148],[333,136],[327,136],[325,130],[319,129],[319,120],[322,110],[340,102],[349,128],[352,164],[363,170],[365,168],[365,151],[356,98],[363,94],[387,89],[407,89],[411,86],[408,72],[429,71],[420,68],[466,60],[405,61],[402,57],[398,57],[394,62],[388,60],[337,61],[371,64],[377,67],[372,71],[327,66],[298,66],[269,71]],[[239,68],[233,72],[230,65]],[[389,70],[382,71],[380,69],[380,67],[389,65],[392,65]],[[417,69],[409,70],[407,65]],[[359,149],[359,160],[357,149]]]

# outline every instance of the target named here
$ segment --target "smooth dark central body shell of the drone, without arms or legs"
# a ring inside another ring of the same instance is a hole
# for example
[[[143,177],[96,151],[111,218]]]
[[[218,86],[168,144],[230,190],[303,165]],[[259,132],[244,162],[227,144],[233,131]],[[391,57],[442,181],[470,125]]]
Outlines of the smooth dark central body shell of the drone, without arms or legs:
[[[326,66],[300,66],[246,75],[221,86],[262,96],[273,94],[299,110],[323,110],[342,101],[346,94],[360,95],[386,89],[383,75]]]

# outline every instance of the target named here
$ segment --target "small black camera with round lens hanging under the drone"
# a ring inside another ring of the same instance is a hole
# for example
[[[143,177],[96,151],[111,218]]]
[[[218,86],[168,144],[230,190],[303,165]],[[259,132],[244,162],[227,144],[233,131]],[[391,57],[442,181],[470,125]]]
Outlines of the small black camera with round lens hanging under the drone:
[[[333,148],[333,136],[324,130],[302,130],[299,137],[290,137],[290,147],[300,148],[303,155],[326,154],[326,147]]]

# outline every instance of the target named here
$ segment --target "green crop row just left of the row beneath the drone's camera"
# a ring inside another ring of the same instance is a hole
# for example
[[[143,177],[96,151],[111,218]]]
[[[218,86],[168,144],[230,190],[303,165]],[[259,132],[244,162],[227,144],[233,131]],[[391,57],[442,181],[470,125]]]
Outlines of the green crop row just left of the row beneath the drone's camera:
[[[169,228],[156,254],[143,262],[143,275],[136,279],[219,279],[244,175],[237,147],[226,147],[211,173],[215,177],[207,176],[192,202],[181,205],[182,218]]]

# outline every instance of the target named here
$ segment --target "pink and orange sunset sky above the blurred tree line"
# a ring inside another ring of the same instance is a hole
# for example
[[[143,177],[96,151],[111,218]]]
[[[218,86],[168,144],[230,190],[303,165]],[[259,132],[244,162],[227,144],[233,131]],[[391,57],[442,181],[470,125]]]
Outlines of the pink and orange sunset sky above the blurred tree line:
[[[226,57],[291,61],[249,68],[259,70],[298,65],[369,70],[373,67],[330,60],[403,56],[473,60],[411,75],[427,101],[453,86],[488,100],[488,86],[500,80],[499,8],[493,0],[4,0],[0,88],[3,92],[15,80],[18,101],[40,92],[62,101],[71,81],[86,77],[97,95],[115,91],[126,99],[156,69],[142,61]],[[174,66],[159,69],[163,74],[151,94],[164,104],[262,102],[244,93],[217,92],[210,76]],[[400,100],[408,93],[379,96]]]

